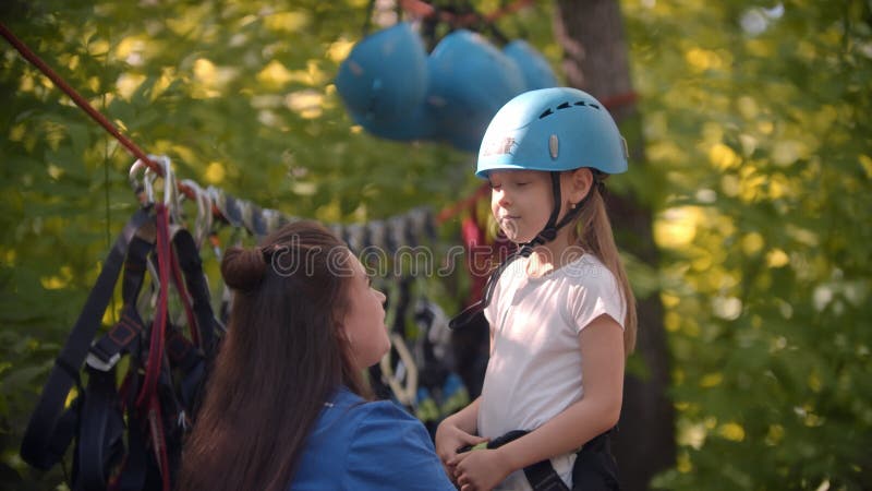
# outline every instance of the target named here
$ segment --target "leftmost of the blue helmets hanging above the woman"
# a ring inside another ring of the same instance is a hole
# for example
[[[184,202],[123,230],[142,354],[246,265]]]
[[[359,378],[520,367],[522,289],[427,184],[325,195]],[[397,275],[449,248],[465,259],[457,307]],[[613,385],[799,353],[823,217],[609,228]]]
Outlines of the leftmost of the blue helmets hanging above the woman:
[[[405,22],[374,33],[352,48],[336,76],[336,88],[353,119],[396,124],[423,104],[427,91],[427,52]]]

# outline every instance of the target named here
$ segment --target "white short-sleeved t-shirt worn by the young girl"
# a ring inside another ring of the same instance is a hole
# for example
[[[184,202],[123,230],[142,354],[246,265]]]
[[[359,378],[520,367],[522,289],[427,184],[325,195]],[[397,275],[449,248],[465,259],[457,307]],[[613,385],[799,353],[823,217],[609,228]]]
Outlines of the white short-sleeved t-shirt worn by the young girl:
[[[494,349],[479,407],[479,434],[493,439],[511,430],[532,431],[584,395],[579,333],[602,314],[621,327],[626,302],[615,276],[584,254],[538,278],[528,259],[511,263],[497,283],[485,316]],[[571,489],[576,455],[552,458]],[[519,470],[499,490],[530,490]]]

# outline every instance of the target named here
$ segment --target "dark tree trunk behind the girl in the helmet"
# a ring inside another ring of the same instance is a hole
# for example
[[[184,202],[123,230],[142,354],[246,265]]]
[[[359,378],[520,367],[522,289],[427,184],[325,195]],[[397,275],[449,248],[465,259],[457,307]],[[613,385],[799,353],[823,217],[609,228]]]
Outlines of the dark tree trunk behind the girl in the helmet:
[[[564,49],[564,71],[570,86],[581,88],[608,107],[630,145],[630,172],[646,168],[641,118],[633,104],[632,82],[622,17],[617,0],[558,0],[554,32]],[[656,180],[655,178],[653,178]],[[637,193],[607,199],[618,247],[645,264],[658,267],[651,206]],[[638,298],[637,354],[644,376],[628,373],[623,409],[615,435],[615,456],[625,490],[649,489],[658,471],[675,463],[675,419],[666,396],[669,355],[658,292]]]

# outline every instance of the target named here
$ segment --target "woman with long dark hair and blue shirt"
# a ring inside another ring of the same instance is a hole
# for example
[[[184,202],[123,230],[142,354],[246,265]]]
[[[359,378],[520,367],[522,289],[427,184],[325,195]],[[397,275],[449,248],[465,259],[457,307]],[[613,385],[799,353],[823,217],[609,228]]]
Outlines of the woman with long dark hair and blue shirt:
[[[231,249],[227,337],[182,455],[179,490],[453,490],[424,426],[367,402],[390,348],[385,296],[326,228]]]

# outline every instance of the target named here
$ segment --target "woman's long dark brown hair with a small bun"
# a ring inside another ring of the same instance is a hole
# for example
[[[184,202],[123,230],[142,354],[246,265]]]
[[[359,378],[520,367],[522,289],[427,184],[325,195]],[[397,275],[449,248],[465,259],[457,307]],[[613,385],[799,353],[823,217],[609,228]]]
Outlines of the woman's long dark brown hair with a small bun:
[[[226,252],[228,334],[183,450],[179,490],[287,489],[332,393],[346,385],[372,397],[339,331],[348,260],[347,247],[313,221]]]

